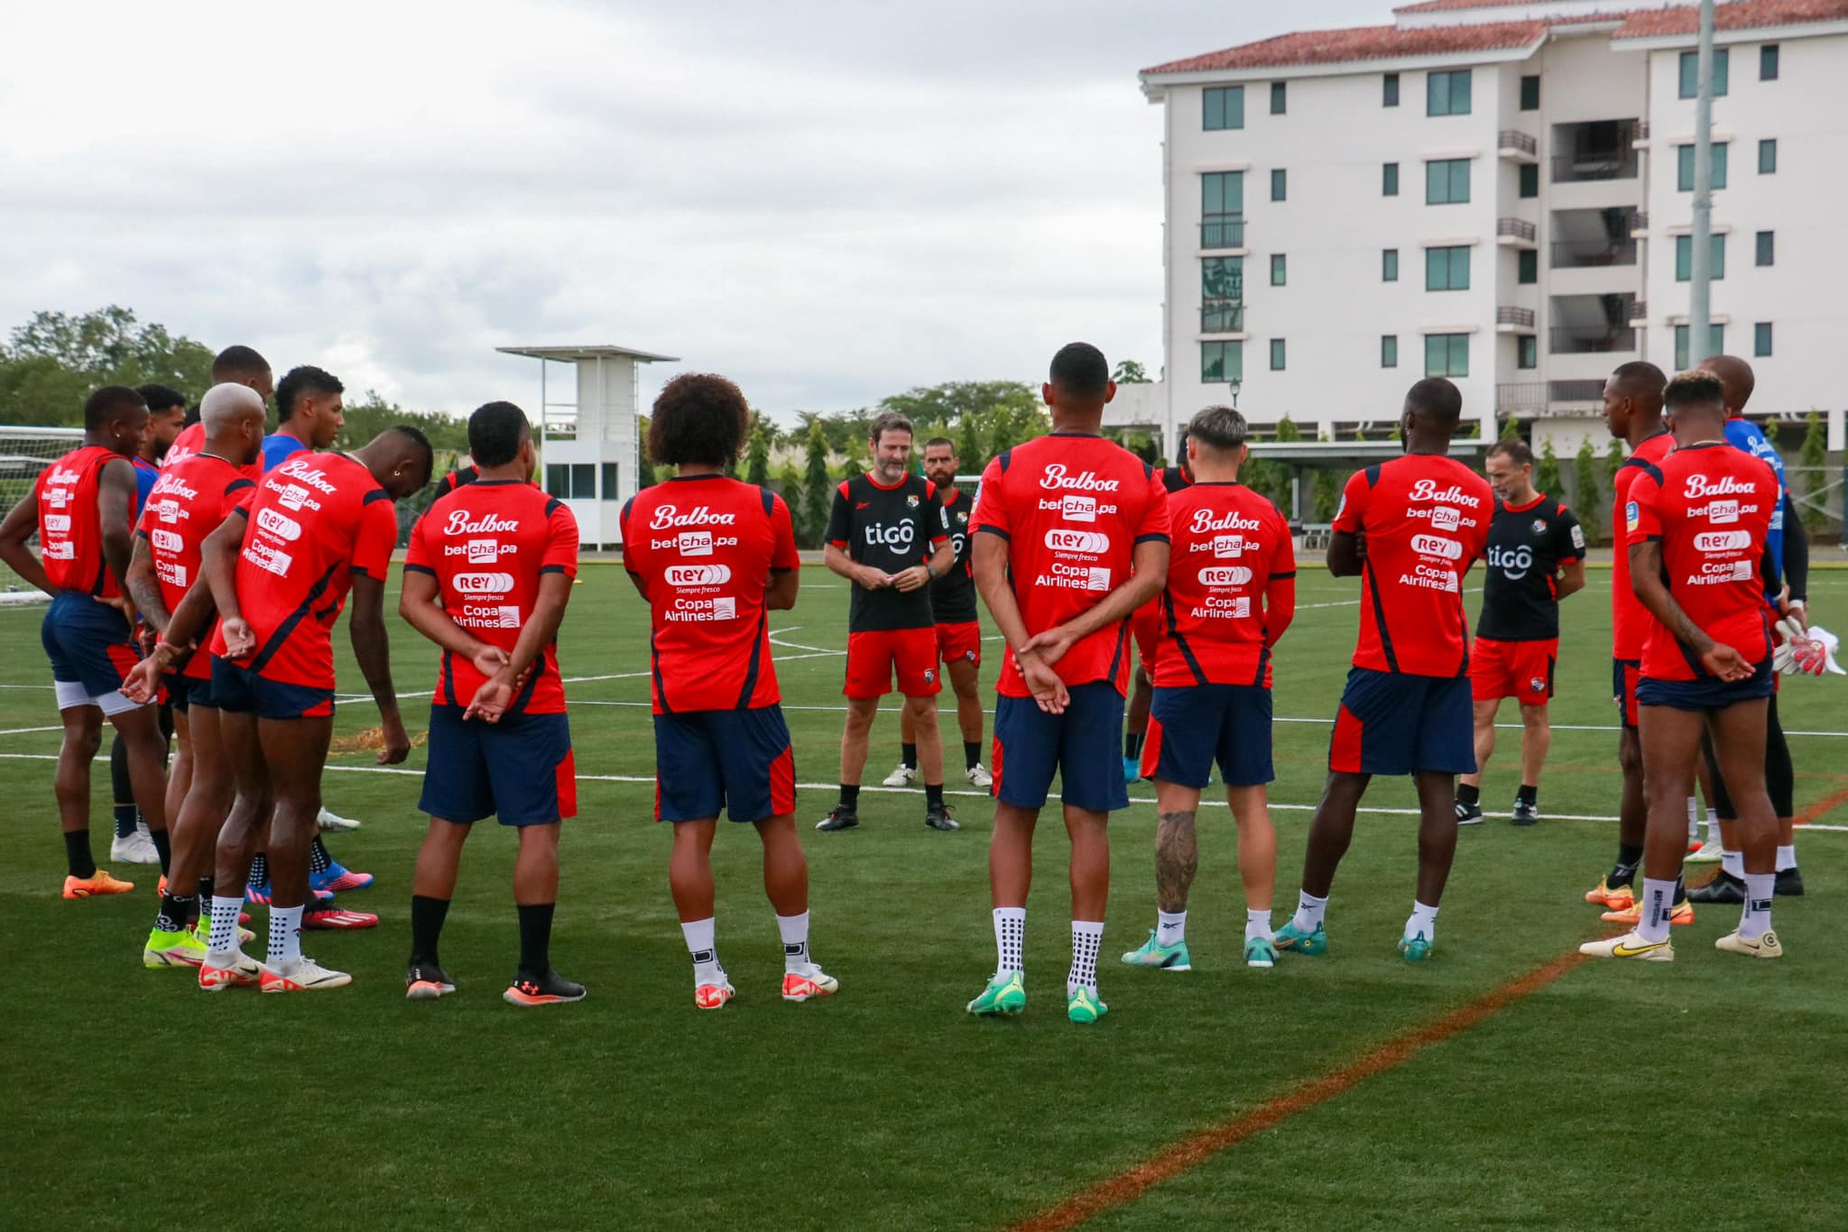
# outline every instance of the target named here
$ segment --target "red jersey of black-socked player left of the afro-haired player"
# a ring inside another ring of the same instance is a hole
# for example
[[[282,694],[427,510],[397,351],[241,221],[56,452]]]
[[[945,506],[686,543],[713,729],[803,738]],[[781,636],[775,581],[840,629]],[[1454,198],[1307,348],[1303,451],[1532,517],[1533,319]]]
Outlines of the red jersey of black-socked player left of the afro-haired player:
[[[547,573],[577,576],[577,519],[564,501],[530,484],[477,480],[438,497],[410,530],[405,573],[436,578],[449,619],[479,641],[514,654]],[[438,706],[468,706],[488,682],[471,659],[444,650]],[[545,646],[510,713],[565,713],[558,643]]]

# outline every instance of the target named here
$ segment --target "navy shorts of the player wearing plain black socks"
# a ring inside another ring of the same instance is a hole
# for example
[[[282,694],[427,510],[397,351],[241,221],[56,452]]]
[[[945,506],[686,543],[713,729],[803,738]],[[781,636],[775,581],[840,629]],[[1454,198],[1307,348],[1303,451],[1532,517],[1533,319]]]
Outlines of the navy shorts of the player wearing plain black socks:
[[[418,809],[445,822],[495,816],[503,826],[551,826],[577,816],[577,759],[564,715],[462,719],[466,706],[431,707],[431,748]]]

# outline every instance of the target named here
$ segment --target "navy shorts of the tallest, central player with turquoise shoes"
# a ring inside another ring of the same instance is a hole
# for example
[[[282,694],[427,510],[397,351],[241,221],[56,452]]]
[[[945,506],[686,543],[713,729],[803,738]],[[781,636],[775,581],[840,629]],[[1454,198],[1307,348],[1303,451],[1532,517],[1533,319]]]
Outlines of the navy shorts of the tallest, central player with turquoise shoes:
[[[1129,807],[1124,783],[1124,695],[1107,680],[1074,685],[1063,715],[1048,715],[1033,698],[994,700],[994,798],[1016,809],[1044,809],[1052,776],[1077,809],[1111,813]]]

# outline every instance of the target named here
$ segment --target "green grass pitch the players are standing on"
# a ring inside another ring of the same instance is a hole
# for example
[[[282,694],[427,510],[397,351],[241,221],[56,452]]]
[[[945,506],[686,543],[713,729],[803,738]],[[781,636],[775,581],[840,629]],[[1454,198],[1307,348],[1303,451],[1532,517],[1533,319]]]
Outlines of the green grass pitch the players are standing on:
[[[67,903],[52,800],[57,733],[39,650],[43,608],[0,610],[0,920],[13,1009],[0,1021],[9,1090],[0,1225],[18,1228],[989,1228],[1040,1212],[1162,1147],[1349,1064],[1600,935],[1584,890],[1615,842],[1608,573],[1567,600],[1549,820],[1465,829],[1434,960],[1395,953],[1412,905],[1406,783],[1379,781],[1329,909],[1331,953],[1240,962],[1233,826],[1201,815],[1188,975],[1116,955],[1153,924],[1148,785],[1112,820],[1114,879],[1094,1029],[1064,1021],[1064,853],[1042,824],[1027,914],[1029,1010],[963,1012],[992,970],[991,811],[954,796],[963,833],[924,827],[922,792],[869,791],[863,826],[817,835],[832,805],[846,591],[809,567],[774,613],[778,674],[804,783],[813,946],[841,994],[776,996],[780,946],[748,827],[723,827],[719,953],[739,988],[693,1009],[652,822],[647,611],[619,569],[588,565],[562,637],[580,816],[565,829],[556,966],[591,994],[516,1010],[499,992],[517,938],[510,835],[480,826],[444,935],[462,986],[403,999],[423,752],[410,774],[338,755],[327,802],[364,818],[334,853],[377,874],[342,896],[370,933],[310,935],[355,973],[327,996],[207,997],[185,972],[146,972],[152,870],[135,894]],[[1848,574],[1818,580],[1818,619]],[[1281,924],[1294,905],[1329,719],[1353,648],[1356,587],[1305,571],[1277,656]],[[1475,600],[1471,600],[1475,602]],[[336,634],[346,685],[359,672]],[[998,643],[989,643],[994,648]],[[800,648],[796,648],[800,646]],[[399,689],[419,731],[434,650],[394,619]],[[992,683],[998,658],[983,667]],[[1791,683],[1798,807],[1848,789],[1848,683]],[[992,698],[991,698],[992,706]],[[1510,704],[1512,706],[1512,704]],[[1504,722],[1515,715],[1506,713]],[[336,733],[377,722],[344,702]],[[950,726],[946,724],[946,730]],[[1514,796],[1517,733],[1484,787]],[[948,741],[955,748],[955,739]],[[867,781],[896,759],[874,731]],[[959,761],[952,755],[952,763]],[[92,807],[107,852],[107,772]],[[961,781],[952,776],[952,787]],[[1210,792],[1209,792],[1210,798]],[[1223,803],[1223,802],[1222,802]],[[1815,816],[1848,824],[1848,805]],[[1848,1221],[1848,833],[1798,839],[1804,900],[1778,900],[1781,962],[1711,949],[1733,909],[1676,929],[1672,966],[1571,970],[1404,1066],[1284,1119],[1098,1219],[1109,1228],[1842,1226]],[[255,925],[264,927],[262,912]]]

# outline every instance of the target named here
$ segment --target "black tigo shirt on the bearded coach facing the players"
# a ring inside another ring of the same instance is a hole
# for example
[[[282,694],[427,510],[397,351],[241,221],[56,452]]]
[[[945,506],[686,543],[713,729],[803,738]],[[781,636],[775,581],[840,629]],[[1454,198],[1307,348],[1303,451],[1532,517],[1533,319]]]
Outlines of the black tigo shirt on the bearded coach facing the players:
[[[906,475],[893,488],[881,488],[870,475],[856,475],[833,489],[828,543],[845,549],[854,563],[902,573],[926,563],[948,534],[937,488],[918,475]],[[846,617],[850,634],[931,624],[935,617],[928,586],[906,593],[891,586],[869,591],[854,584]]]

